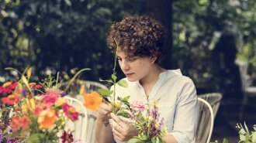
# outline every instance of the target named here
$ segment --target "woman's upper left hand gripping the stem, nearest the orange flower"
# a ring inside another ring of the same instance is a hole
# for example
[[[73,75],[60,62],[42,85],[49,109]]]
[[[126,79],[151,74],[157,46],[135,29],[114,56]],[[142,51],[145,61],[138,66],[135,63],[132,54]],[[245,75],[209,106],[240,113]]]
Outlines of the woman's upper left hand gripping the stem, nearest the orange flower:
[[[99,107],[98,117],[103,123],[108,123],[111,118],[110,113],[112,112],[112,105],[106,101],[103,101]]]

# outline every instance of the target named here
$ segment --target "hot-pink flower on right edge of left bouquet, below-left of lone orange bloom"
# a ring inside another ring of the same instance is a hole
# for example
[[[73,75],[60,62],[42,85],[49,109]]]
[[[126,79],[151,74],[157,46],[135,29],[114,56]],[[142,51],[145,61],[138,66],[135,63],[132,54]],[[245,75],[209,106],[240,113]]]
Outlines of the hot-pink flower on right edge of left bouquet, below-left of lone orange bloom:
[[[71,105],[64,103],[62,104],[62,109],[66,116],[71,119],[71,121],[77,121],[79,113],[75,111],[74,107]]]

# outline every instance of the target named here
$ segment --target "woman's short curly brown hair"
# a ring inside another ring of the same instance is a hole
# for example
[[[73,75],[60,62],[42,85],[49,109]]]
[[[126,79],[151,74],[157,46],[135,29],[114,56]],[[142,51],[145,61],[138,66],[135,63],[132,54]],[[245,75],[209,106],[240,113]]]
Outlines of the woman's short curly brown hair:
[[[107,45],[115,53],[116,39],[119,50],[127,56],[157,56],[159,63],[164,38],[164,26],[155,19],[146,15],[127,17],[112,24]]]

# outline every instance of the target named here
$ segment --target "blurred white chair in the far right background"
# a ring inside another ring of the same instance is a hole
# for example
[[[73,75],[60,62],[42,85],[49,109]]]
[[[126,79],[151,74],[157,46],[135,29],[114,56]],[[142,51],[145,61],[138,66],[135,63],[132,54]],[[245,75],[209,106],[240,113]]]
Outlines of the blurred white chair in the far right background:
[[[236,60],[235,63],[239,66],[240,80],[243,92],[243,101],[240,107],[239,118],[242,120],[244,116],[244,106],[247,104],[248,97],[256,97],[256,87],[251,87],[251,77],[248,75],[248,63]]]

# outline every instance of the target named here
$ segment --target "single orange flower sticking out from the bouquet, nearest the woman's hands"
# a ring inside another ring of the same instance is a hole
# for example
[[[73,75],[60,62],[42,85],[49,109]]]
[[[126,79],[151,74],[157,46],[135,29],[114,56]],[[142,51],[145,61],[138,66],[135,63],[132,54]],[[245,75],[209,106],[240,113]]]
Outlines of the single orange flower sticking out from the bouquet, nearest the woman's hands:
[[[85,107],[92,111],[96,111],[100,104],[102,104],[102,98],[99,97],[96,91],[93,91],[91,94],[82,93],[82,96],[85,98]]]

